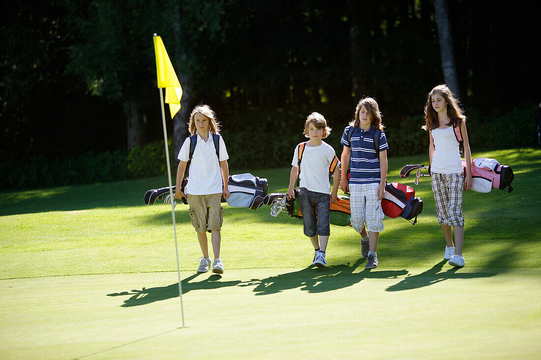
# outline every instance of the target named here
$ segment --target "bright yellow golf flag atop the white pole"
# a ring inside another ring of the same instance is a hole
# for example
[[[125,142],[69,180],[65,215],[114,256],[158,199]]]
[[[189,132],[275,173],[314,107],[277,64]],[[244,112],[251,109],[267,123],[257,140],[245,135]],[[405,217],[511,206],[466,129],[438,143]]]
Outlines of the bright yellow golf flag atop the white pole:
[[[175,70],[162,38],[154,36],[154,54],[156,54],[156,74],[158,76],[158,88],[166,88],[166,103],[169,104],[171,118],[180,110],[180,98],[182,97],[182,88],[179,78],[176,77]]]

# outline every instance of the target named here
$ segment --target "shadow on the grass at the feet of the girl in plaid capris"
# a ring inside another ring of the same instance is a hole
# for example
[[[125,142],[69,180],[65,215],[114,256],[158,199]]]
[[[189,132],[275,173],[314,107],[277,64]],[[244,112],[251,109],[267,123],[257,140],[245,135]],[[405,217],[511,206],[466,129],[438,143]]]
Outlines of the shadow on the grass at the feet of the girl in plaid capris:
[[[386,291],[401,291],[423,288],[433,285],[447,279],[471,279],[477,277],[491,277],[497,275],[497,272],[457,272],[459,268],[451,268],[445,272],[440,272],[447,260],[440,261],[431,269],[421,272],[421,274],[407,276],[398,284],[389,286]]]

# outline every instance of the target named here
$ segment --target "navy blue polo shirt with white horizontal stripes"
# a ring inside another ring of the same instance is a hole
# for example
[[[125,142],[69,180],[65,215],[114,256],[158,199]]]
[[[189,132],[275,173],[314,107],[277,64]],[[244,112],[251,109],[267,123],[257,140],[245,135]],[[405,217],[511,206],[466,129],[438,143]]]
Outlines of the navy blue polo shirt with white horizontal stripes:
[[[349,177],[350,184],[372,184],[381,181],[379,171],[379,158],[374,150],[374,129],[371,127],[368,131],[360,128],[353,129],[351,144],[347,136],[351,125],[346,126],[340,143],[351,148],[351,172]],[[387,150],[387,139],[385,132],[381,131],[379,137],[379,151]]]

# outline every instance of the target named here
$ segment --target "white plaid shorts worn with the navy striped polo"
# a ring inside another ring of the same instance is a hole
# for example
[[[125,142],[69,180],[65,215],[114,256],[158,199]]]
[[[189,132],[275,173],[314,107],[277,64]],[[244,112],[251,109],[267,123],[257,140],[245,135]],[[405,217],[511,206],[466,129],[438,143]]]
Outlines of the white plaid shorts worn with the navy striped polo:
[[[378,185],[349,184],[349,206],[351,206],[351,226],[355,231],[361,232],[366,222],[366,229],[372,232],[383,230],[383,209],[381,200],[378,200]]]

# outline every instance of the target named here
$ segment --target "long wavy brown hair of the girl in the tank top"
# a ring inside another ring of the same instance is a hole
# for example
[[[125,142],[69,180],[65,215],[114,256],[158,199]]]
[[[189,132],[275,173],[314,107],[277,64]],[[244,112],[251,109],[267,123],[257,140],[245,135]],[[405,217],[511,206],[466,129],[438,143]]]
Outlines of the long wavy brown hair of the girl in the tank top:
[[[422,126],[424,130],[434,130],[439,128],[438,112],[432,107],[432,96],[440,94],[447,103],[447,117],[449,123],[447,126],[453,126],[456,128],[462,122],[466,122],[466,116],[462,109],[458,105],[458,100],[454,98],[453,92],[445,84],[438,85],[428,93],[428,99],[425,105],[425,119],[426,124]]]

